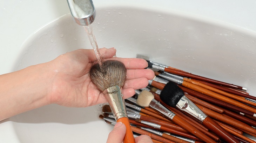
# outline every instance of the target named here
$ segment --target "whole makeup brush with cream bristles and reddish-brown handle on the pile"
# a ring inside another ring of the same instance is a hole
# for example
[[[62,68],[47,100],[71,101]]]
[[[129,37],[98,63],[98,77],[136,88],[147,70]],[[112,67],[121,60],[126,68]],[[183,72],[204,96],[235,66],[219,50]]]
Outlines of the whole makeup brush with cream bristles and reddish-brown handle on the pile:
[[[208,143],[216,143],[212,138],[205,135],[203,132],[190,125],[188,122],[186,122],[185,120],[168,110],[166,107],[164,107],[162,104],[160,104],[159,101],[154,99],[154,95],[149,91],[141,91],[140,95],[137,98],[137,104],[144,107],[151,107],[154,110],[159,111],[164,116],[175,122],[177,125],[186,129],[191,134],[197,136],[203,141],[207,141]]]

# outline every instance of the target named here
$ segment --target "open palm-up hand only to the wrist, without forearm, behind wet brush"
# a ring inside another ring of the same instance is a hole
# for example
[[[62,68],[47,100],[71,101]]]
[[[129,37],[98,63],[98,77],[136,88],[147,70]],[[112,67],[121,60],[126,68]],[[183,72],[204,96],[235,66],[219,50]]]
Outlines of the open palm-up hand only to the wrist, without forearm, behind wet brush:
[[[147,67],[147,62],[137,58],[117,58],[114,48],[101,48],[104,60],[118,60],[124,63],[127,70],[127,80],[123,86],[124,98],[135,94],[134,89],[144,88],[154,73]],[[89,71],[96,61],[93,50],[80,49],[63,54],[50,62],[54,75],[50,103],[63,106],[87,107],[106,103],[105,96],[90,81]]]

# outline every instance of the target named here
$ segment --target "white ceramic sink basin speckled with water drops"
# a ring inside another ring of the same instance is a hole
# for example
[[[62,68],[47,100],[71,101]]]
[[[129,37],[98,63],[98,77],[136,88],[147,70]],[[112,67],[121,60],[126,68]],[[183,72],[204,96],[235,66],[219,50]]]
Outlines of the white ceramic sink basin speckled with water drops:
[[[160,9],[159,4],[142,8],[126,2],[97,6],[97,2],[93,30],[99,47],[115,47],[117,57],[144,54],[165,65],[244,86],[250,95],[256,95],[254,31],[213,18]],[[91,49],[90,42],[83,27],[67,13],[28,36],[12,71],[78,48]],[[4,141],[13,143],[106,142],[113,126],[99,119],[100,106],[48,105],[1,121],[0,128],[8,128],[8,135],[12,135]]]

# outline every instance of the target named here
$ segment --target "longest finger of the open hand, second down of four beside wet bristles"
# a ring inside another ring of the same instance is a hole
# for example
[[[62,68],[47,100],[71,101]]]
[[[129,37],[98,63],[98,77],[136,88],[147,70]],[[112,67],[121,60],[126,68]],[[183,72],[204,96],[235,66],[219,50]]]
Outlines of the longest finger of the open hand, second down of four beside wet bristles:
[[[140,77],[145,77],[148,80],[152,80],[154,76],[154,71],[151,69],[128,69],[126,73],[126,80]]]

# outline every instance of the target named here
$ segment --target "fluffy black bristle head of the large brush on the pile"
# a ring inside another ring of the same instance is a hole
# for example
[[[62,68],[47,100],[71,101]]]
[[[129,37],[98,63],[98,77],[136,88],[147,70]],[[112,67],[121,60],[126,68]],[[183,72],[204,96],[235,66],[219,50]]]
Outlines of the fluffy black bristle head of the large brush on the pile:
[[[173,82],[168,82],[160,94],[160,99],[171,107],[175,107],[184,96],[184,92],[178,85]]]

